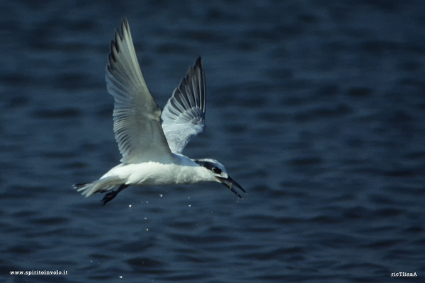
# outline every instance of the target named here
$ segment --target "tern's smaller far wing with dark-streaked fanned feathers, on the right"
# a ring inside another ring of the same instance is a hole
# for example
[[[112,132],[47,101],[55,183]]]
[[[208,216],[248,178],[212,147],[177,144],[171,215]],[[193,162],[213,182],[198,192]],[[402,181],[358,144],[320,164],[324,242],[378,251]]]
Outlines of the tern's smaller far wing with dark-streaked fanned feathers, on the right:
[[[205,76],[200,57],[181,80],[162,111],[162,129],[172,152],[181,154],[205,129]]]

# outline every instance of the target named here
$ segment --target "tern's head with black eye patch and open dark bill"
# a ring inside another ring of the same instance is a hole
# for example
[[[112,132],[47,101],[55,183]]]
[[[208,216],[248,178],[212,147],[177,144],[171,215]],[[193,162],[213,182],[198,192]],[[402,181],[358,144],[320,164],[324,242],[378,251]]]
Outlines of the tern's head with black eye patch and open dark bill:
[[[222,163],[214,159],[198,159],[195,162],[208,171],[208,174],[212,176],[212,180],[222,183],[223,185],[228,187],[235,195],[242,199],[242,196],[239,195],[236,190],[234,190],[234,187],[238,187],[240,190],[242,190],[242,192],[246,193],[246,191],[241,185],[236,183],[235,180],[230,178],[230,176],[227,174],[225,166],[223,166]]]

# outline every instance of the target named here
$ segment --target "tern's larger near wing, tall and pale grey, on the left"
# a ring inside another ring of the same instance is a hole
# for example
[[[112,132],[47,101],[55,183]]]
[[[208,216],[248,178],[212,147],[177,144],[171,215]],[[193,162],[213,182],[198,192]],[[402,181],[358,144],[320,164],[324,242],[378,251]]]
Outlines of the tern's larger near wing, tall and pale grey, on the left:
[[[106,67],[106,86],[115,99],[113,131],[123,163],[168,162],[173,154],[161,127],[161,110],[140,71],[127,19],[115,30]]]

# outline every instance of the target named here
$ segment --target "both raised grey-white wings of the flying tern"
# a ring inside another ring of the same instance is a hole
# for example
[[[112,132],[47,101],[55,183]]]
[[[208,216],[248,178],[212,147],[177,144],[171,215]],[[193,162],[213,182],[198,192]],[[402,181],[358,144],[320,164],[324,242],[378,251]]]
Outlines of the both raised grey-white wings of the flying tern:
[[[115,99],[113,129],[122,162],[169,161],[171,151],[181,154],[191,138],[205,129],[205,75],[200,57],[161,115],[140,71],[126,19],[121,34],[115,30],[111,42],[106,85]]]

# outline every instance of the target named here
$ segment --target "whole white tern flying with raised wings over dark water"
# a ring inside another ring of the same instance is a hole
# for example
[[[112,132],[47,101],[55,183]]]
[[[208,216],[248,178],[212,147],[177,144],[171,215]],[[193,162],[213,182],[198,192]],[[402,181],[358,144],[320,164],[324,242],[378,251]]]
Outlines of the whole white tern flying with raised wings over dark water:
[[[202,60],[196,60],[161,113],[147,89],[132,42],[127,19],[115,41],[106,67],[106,86],[115,99],[113,131],[123,158],[93,183],[74,185],[82,195],[108,192],[106,204],[129,185],[171,185],[219,182],[234,194],[238,183],[213,159],[191,159],[181,152],[205,129],[205,75]],[[161,122],[162,120],[162,122]],[[113,191],[115,187],[118,190]]]

